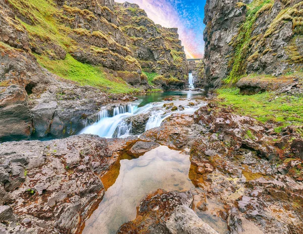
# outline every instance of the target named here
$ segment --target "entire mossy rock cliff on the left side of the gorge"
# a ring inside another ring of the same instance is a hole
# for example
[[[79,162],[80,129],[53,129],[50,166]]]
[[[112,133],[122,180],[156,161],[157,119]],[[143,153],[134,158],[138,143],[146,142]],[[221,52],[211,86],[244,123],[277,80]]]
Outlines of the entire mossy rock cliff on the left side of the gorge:
[[[134,49],[127,30],[134,19],[128,25],[117,6],[0,0],[0,141],[75,134],[101,105],[151,89],[142,67],[163,75],[159,86],[182,88],[187,64],[177,29],[156,27],[136,7],[137,24],[149,31],[134,32],[144,38]]]

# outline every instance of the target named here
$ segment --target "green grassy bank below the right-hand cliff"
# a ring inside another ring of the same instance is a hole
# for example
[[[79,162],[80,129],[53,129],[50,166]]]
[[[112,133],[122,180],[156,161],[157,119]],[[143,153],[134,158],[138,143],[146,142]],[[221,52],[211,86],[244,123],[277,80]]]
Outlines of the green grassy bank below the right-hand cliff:
[[[303,96],[278,96],[265,92],[255,95],[241,95],[239,89],[221,88],[218,92],[220,103],[232,106],[239,114],[248,115],[263,123],[279,123],[276,131],[283,126],[303,125]],[[248,134],[247,134],[248,135]]]

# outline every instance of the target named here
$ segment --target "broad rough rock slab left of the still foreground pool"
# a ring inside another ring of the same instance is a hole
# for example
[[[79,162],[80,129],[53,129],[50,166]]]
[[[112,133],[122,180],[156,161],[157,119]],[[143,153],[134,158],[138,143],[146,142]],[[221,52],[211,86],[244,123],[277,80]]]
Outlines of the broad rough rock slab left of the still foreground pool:
[[[100,177],[134,142],[81,135],[1,144],[0,205],[10,209],[0,206],[0,226],[11,233],[76,233],[104,196]]]

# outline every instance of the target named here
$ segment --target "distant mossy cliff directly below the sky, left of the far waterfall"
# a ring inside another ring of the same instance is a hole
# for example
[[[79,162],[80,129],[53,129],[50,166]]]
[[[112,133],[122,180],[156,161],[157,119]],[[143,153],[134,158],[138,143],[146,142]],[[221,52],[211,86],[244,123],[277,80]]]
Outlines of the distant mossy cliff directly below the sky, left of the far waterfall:
[[[155,24],[136,4],[116,4],[115,10],[129,48],[144,71],[187,79],[187,60],[177,28]]]

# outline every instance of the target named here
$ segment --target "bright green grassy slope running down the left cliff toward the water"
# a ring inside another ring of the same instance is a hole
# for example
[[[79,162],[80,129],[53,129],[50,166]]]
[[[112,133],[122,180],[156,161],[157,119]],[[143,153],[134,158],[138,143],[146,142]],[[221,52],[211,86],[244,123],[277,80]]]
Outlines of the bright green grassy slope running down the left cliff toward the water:
[[[69,48],[77,45],[68,36],[72,29],[60,23],[58,17],[55,17],[62,16],[62,11],[55,7],[56,5],[52,0],[8,1],[21,15],[33,22],[32,25],[29,25],[17,18],[28,31],[31,43],[35,44],[36,38],[39,38],[44,43],[57,44],[67,51],[64,60],[51,60],[46,54],[35,55],[43,67],[80,85],[95,86],[110,93],[137,91],[122,79],[112,78],[105,74],[101,68],[78,62],[68,54],[70,52]],[[47,51],[47,53],[52,55],[52,51]]]

